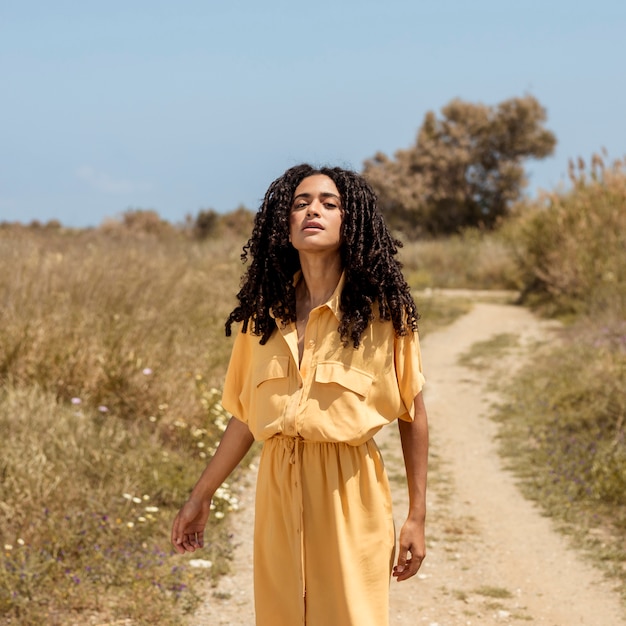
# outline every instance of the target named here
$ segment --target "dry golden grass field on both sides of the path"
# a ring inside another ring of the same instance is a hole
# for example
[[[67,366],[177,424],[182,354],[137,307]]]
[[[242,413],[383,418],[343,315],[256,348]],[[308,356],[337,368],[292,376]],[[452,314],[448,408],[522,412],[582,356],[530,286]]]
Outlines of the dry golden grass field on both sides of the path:
[[[528,493],[605,546],[616,573],[626,184],[617,170],[577,181],[500,232],[407,242],[401,259],[426,290],[422,334],[470,306],[426,295],[442,287],[518,289],[568,321],[563,345],[508,390],[504,450]],[[202,563],[174,556],[168,534],[229,417],[224,321],[244,240],[239,227],[194,238],[140,217],[0,228],[0,624],[173,626],[198,582],[228,567],[236,474],[214,499]]]

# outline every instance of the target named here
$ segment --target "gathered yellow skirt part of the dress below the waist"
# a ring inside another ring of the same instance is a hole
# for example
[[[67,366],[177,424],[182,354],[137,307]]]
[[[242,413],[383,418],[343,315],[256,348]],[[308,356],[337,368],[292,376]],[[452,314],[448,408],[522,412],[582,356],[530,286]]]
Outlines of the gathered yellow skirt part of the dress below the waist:
[[[387,626],[395,532],[374,440],[271,437],[256,494],[257,626]]]

